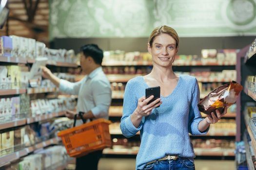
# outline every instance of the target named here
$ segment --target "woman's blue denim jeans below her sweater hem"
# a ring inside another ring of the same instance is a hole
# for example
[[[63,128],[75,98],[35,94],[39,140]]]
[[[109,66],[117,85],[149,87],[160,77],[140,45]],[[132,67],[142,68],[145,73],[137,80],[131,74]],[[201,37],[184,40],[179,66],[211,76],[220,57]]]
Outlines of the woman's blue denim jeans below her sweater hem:
[[[143,170],[195,170],[193,158],[157,161],[146,165]]]

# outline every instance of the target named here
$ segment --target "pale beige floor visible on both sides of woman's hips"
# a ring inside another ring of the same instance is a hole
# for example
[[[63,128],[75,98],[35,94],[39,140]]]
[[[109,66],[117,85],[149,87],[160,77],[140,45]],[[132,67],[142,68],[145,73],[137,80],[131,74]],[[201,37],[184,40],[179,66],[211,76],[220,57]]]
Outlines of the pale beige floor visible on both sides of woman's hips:
[[[232,160],[196,160],[196,170],[235,170]],[[135,170],[135,159],[101,158],[98,170]]]

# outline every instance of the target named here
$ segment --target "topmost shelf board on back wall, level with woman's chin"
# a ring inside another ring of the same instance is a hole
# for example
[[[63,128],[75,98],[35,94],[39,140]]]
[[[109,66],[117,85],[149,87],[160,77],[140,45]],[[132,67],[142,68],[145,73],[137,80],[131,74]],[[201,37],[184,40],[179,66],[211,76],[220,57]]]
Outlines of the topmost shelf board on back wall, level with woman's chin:
[[[151,61],[111,61],[104,62],[102,66],[152,66]],[[230,62],[201,62],[201,61],[179,61],[176,60],[173,66],[235,66],[234,63]]]

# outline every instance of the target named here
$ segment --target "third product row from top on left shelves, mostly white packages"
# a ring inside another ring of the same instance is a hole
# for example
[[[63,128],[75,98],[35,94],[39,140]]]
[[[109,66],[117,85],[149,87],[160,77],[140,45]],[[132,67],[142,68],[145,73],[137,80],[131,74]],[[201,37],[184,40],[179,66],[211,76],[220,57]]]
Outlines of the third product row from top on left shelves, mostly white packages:
[[[58,113],[67,109],[74,110],[76,99],[72,97],[59,99],[30,100],[29,95],[0,99],[1,122],[23,118],[34,118],[39,115]]]

